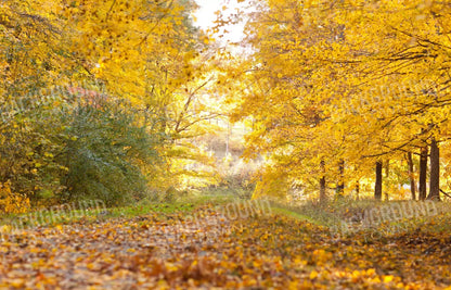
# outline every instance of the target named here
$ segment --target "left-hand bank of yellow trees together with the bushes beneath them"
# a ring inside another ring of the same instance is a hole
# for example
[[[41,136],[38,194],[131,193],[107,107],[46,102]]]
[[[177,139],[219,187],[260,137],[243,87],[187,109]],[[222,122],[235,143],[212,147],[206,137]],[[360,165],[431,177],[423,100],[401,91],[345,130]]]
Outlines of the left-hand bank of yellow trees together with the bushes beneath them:
[[[195,8],[1,1],[2,192],[35,205],[114,205],[215,181],[212,160],[192,143],[218,115],[202,97],[209,56],[190,17]]]

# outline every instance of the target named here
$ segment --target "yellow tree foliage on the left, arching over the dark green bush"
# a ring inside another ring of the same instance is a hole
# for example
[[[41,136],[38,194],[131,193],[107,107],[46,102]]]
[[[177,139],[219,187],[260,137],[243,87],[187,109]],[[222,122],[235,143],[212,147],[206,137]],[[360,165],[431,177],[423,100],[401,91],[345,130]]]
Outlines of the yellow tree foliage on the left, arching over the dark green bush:
[[[204,87],[201,83],[204,71],[198,70],[196,63],[202,49],[197,45],[202,37],[190,20],[190,13],[195,9],[193,2],[9,0],[2,1],[0,7],[0,64],[4,68],[0,73],[3,84],[0,92],[3,103],[10,103],[4,111],[10,115],[10,109],[14,108],[13,113],[21,113],[12,114],[12,122],[3,130],[2,144],[5,149],[13,148],[11,144],[16,140],[22,140],[20,143],[23,144],[15,147],[22,148],[20,154],[2,159],[5,162],[2,178],[39,173],[42,167],[48,167],[42,165],[47,162],[37,160],[37,154],[34,154],[42,141],[35,143],[33,138],[21,136],[34,136],[30,133],[35,133],[38,139],[46,139],[49,150],[55,152],[65,146],[65,142],[49,140],[50,136],[63,134],[64,126],[53,131],[37,133],[37,128],[47,126],[37,122],[38,110],[34,110],[36,105],[28,105],[28,101],[36,104],[51,94],[66,94],[66,90],[56,88],[77,88],[86,84],[94,84],[92,89],[96,90],[101,84],[112,96],[112,101],[115,98],[129,100],[130,110],[141,112],[140,119],[131,125],[145,126],[147,134],[158,139],[158,151],[163,157],[168,161],[192,159],[207,162],[205,156],[197,154],[196,148],[182,152],[175,149],[173,142],[175,139],[188,140],[202,134],[205,128],[201,123],[214,115],[201,102],[193,101],[198,88]],[[35,112],[34,116],[26,116],[26,123],[22,118],[24,108],[16,108],[24,96],[29,96],[26,98],[27,109]],[[57,96],[54,101],[46,102],[42,109],[52,112],[60,106],[70,106],[66,97]],[[194,103],[198,104],[195,110]],[[191,114],[193,111],[196,114]],[[18,130],[17,126],[24,126],[26,130]],[[184,135],[181,136],[181,133]],[[46,153],[56,155],[52,152]],[[49,156],[46,159],[51,159]],[[17,164],[16,172],[10,169],[10,163]],[[22,166],[23,163],[29,166]],[[158,178],[170,174],[165,166],[156,169],[152,162],[144,164],[138,161],[137,164],[142,171],[158,175]],[[56,181],[59,175],[50,174]],[[26,178],[34,180],[29,176]],[[165,182],[159,185],[165,187]],[[27,192],[36,190],[39,189],[35,189],[34,185],[27,186]]]

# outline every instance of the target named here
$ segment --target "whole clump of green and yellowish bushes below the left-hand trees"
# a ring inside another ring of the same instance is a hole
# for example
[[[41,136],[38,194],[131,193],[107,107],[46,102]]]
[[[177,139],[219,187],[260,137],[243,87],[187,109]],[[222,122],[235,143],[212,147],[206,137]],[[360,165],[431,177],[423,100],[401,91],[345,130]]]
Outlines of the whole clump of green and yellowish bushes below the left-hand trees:
[[[0,182],[10,180],[35,206],[81,199],[119,205],[151,194],[147,178],[163,167],[156,148],[167,138],[146,125],[158,119],[126,101],[94,96],[35,91],[0,108],[8,112]]]

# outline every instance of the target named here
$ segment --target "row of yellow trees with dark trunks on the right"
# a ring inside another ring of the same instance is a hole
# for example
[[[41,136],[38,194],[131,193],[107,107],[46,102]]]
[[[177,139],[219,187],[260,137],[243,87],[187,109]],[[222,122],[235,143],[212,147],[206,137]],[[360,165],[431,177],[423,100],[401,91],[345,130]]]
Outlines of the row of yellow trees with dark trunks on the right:
[[[248,4],[252,52],[224,67],[223,89],[232,117],[254,121],[247,156],[268,160],[255,196],[300,185],[325,200],[327,188],[342,196],[375,182],[382,199],[385,167],[387,193],[410,184],[412,198],[439,199],[450,173],[451,4]]]

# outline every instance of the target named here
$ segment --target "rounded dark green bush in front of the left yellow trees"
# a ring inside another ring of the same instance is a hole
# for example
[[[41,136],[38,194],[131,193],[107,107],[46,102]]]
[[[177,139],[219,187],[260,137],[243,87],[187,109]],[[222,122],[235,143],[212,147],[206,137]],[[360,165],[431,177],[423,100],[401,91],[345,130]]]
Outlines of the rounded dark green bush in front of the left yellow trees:
[[[74,111],[70,138],[60,159],[68,168],[62,200],[100,199],[120,205],[147,194],[142,168],[162,162],[156,151],[162,138],[149,134],[138,113],[127,108],[126,102],[99,99]]]

